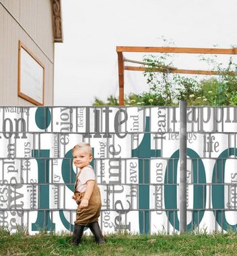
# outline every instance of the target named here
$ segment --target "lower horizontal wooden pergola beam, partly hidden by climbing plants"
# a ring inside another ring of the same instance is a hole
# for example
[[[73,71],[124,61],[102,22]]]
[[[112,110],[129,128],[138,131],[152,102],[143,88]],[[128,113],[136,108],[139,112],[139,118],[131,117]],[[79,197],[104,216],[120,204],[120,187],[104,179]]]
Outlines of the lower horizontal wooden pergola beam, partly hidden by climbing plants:
[[[147,71],[149,70],[148,67],[132,67],[132,66],[125,66],[125,70],[131,70],[131,71]],[[163,72],[167,71],[167,69],[159,69],[154,68],[154,72]],[[170,69],[170,73],[181,73],[181,74],[196,74],[196,75],[219,75],[220,71],[209,71],[209,70],[192,70],[192,69]],[[234,71],[229,73],[236,73]]]

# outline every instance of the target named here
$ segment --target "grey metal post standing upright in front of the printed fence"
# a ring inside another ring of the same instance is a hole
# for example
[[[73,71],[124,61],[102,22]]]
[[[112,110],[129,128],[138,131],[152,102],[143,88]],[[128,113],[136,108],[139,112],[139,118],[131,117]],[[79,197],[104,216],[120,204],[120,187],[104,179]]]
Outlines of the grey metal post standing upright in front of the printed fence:
[[[180,107],[180,233],[187,230],[187,101]]]

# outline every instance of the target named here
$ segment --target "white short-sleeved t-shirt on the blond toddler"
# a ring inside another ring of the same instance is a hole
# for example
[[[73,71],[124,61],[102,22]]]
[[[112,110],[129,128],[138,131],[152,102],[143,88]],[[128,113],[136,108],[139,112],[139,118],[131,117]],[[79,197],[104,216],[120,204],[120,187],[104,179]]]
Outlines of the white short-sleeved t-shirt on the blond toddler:
[[[85,192],[86,183],[90,180],[95,181],[96,174],[92,166],[88,165],[81,169],[81,173],[79,174],[79,176],[77,175],[77,186],[75,187],[75,190],[79,192]]]

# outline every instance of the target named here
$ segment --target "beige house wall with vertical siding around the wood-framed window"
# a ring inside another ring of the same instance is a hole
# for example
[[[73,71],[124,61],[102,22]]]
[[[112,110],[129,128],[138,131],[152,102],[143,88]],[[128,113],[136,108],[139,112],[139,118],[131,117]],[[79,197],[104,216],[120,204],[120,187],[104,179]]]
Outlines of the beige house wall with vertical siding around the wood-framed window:
[[[18,45],[44,65],[44,105],[53,105],[54,38],[50,0],[0,0],[0,105],[32,106],[18,96]]]

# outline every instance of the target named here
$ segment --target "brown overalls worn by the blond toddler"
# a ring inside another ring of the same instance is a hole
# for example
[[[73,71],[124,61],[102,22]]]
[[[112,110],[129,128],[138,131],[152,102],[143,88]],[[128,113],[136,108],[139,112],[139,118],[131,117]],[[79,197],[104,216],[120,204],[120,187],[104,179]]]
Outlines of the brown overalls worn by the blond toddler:
[[[83,199],[86,192],[76,191],[77,178],[74,186],[74,195],[75,201],[77,202],[77,216],[75,220],[75,224],[88,226],[92,222],[97,222],[100,216],[101,209],[101,196],[100,196],[100,188],[98,187],[96,181],[92,191],[92,195],[88,202],[88,207],[80,208],[79,205],[81,200]]]

